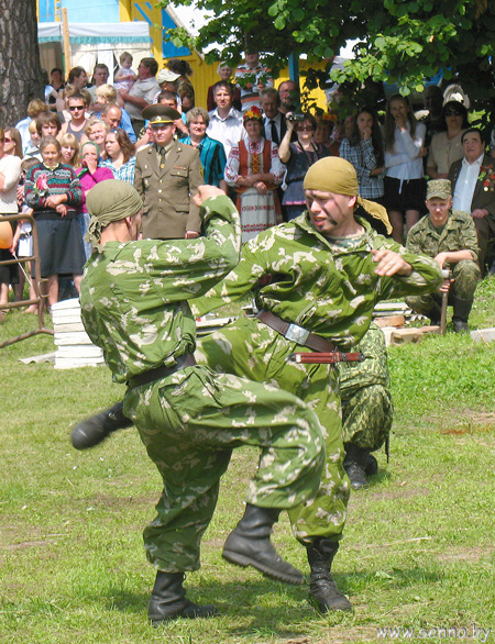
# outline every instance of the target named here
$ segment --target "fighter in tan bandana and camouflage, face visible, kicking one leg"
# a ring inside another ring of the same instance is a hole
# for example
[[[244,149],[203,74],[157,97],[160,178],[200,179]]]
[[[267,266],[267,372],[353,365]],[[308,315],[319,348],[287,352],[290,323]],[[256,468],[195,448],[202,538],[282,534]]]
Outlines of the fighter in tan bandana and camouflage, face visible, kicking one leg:
[[[312,165],[305,192],[308,211],[249,241],[238,267],[191,308],[201,315],[254,292],[261,317],[239,319],[200,338],[197,359],[217,371],[293,391],[316,411],[326,431],[318,498],[289,511],[294,533],[308,552],[311,602],[324,612],[351,608],[330,575],[350,491],[339,385],[327,365],[296,364],[288,356],[315,346],[329,351],[330,343],[349,351],[364,336],[378,300],[437,288],[441,271],[432,259],[378,235],[360,216],[383,209],[356,197],[355,170],[346,160],[328,157]],[[285,331],[275,317],[286,322]],[[311,336],[305,340],[307,332]]]

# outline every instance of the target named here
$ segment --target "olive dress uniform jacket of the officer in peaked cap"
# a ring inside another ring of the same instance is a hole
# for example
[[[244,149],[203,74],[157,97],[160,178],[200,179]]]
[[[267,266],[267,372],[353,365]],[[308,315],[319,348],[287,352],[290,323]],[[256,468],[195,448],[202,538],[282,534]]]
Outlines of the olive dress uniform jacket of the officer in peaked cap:
[[[155,145],[138,152],[134,188],[144,203],[143,237],[184,238],[201,230],[199,208],[193,197],[202,186],[199,152],[176,141],[162,164]]]

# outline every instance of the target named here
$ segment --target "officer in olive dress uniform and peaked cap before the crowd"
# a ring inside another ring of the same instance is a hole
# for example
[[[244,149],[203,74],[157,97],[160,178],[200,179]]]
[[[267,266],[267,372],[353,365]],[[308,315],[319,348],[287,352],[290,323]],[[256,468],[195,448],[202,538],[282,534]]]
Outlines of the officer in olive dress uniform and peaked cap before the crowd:
[[[199,235],[199,208],[193,201],[202,179],[199,152],[174,138],[180,114],[163,104],[143,110],[154,143],[135,159],[134,188],[144,202],[143,236],[153,240],[193,238]]]

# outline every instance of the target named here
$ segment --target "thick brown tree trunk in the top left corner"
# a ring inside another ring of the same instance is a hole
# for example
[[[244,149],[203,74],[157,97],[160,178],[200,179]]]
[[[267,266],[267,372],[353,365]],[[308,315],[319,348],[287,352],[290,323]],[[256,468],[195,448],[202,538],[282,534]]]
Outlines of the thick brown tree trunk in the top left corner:
[[[0,125],[14,126],[43,96],[36,0],[0,0]]]

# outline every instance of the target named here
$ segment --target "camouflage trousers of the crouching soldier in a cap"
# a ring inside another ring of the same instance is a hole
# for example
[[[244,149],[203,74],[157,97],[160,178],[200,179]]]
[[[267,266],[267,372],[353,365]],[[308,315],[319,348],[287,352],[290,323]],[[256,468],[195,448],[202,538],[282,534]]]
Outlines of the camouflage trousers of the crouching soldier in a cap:
[[[449,304],[452,304],[452,298],[461,300],[472,300],[476,290],[477,280],[480,279],[480,267],[471,259],[461,259],[458,264],[451,265],[452,279],[450,286]],[[406,298],[406,304],[417,313],[430,318],[438,307],[441,306],[441,292],[429,293],[425,296],[410,296]],[[436,313],[435,313],[436,314]]]

